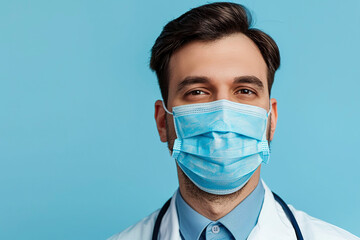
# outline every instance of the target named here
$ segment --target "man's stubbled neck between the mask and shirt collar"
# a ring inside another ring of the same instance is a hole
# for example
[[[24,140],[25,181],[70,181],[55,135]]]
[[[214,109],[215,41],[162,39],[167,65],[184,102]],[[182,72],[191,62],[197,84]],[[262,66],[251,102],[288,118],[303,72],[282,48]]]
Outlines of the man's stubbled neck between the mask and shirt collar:
[[[231,212],[257,186],[260,179],[260,167],[239,191],[228,195],[214,195],[200,190],[177,167],[180,193],[187,204],[206,218],[216,221]]]

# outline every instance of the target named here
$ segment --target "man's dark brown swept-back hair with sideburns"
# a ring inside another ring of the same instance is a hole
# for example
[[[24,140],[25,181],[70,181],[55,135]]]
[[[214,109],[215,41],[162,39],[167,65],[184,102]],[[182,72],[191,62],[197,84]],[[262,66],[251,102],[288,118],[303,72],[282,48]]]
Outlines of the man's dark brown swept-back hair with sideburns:
[[[266,33],[252,28],[249,11],[242,5],[218,2],[193,8],[164,27],[151,49],[150,68],[156,72],[162,98],[168,98],[169,61],[172,54],[192,41],[214,41],[233,33],[242,33],[259,48],[267,65],[269,95],[280,53],[275,41]]]

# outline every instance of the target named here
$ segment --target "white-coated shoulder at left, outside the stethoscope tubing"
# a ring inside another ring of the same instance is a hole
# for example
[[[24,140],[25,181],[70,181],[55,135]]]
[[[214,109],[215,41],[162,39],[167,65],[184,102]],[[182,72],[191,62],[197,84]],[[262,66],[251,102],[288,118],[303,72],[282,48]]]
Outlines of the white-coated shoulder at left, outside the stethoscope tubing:
[[[138,223],[128,227],[124,231],[115,234],[107,240],[150,240],[152,237],[152,231],[155,225],[156,216],[159,214],[159,210],[153,212],[149,216],[143,218]]]

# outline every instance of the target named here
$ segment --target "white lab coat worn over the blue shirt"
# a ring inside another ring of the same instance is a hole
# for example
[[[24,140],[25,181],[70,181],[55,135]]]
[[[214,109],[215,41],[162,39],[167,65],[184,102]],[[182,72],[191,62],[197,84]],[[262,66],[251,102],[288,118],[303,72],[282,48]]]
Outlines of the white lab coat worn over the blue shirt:
[[[248,239],[271,239],[271,240],[296,240],[295,231],[286,217],[281,206],[275,201],[271,190],[265,185],[264,203],[259,215],[258,223],[251,231]],[[169,209],[164,215],[159,230],[160,240],[181,240],[179,234],[179,222],[176,213],[175,192]],[[351,233],[334,225],[313,218],[302,211],[296,210],[289,205],[296,221],[299,224],[301,233],[305,240],[360,240]],[[159,210],[144,218],[137,224],[125,229],[108,240],[151,240],[154,224]]]

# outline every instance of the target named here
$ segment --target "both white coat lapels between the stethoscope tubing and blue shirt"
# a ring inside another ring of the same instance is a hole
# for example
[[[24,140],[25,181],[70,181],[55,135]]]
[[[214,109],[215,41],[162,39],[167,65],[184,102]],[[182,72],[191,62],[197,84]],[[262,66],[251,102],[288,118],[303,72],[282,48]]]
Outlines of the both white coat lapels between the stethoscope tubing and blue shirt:
[[[265,189],[264,203],[258,223],[251,231],[248,239],[296,239],[294,229],[281,206],[275,201],[271,190],[266,186],[265,182],[262,181],[262,183]],[[164,215],[160,226],[159,239],[181,240],[175,204],[177,194],[176,191],[171,199],[169,209]]]

